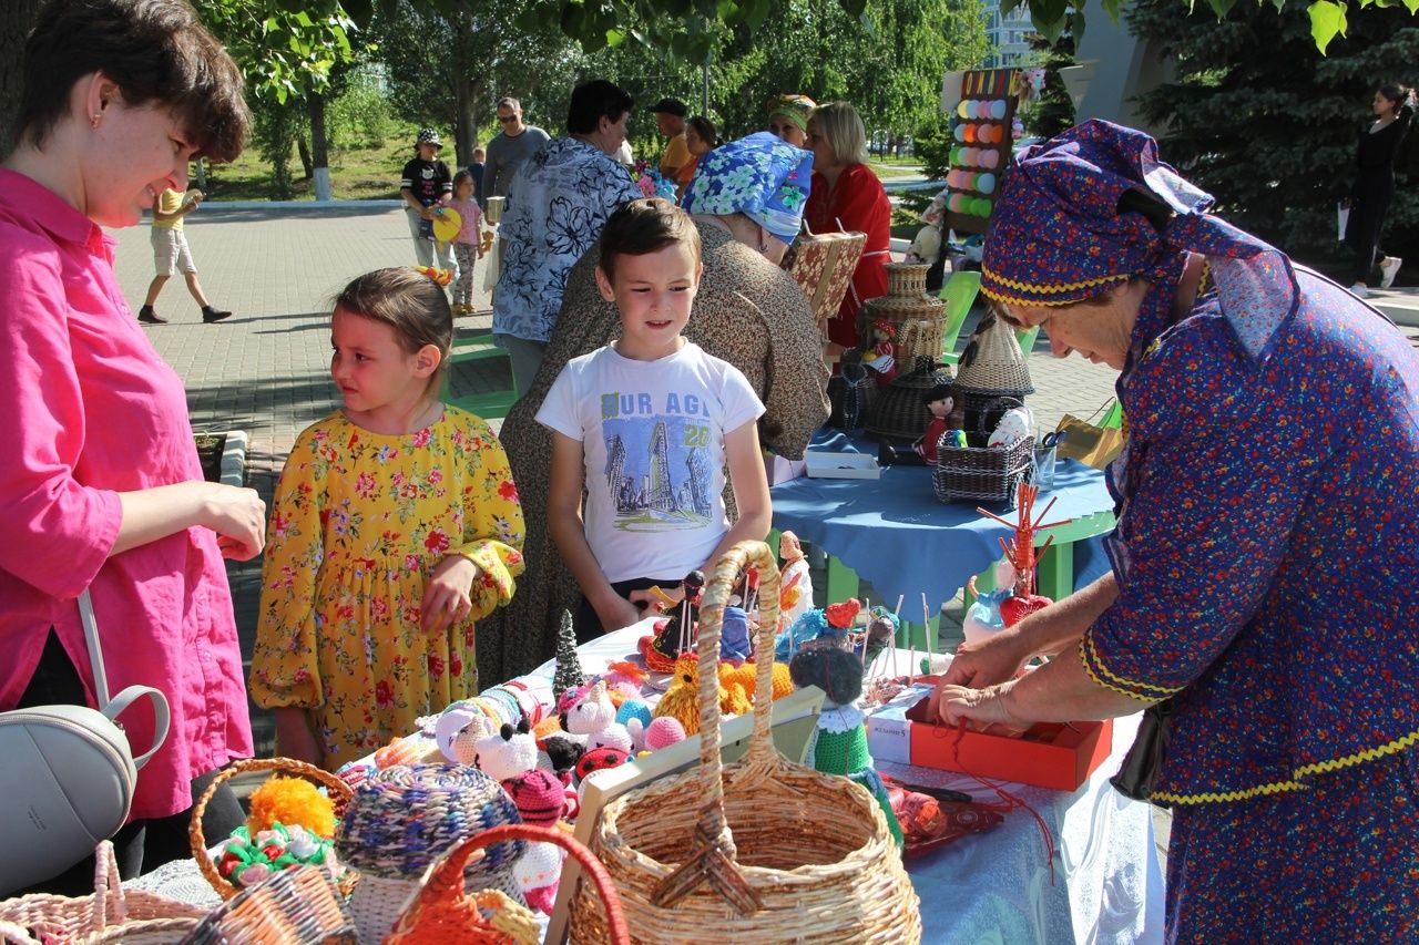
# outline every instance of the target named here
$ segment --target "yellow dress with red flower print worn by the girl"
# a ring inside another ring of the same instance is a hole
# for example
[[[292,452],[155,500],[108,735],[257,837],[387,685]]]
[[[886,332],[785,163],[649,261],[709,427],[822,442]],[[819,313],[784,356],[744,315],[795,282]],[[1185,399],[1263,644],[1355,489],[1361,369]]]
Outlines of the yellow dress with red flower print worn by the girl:
[[[275,491],[251,698],[309,709],[333,769],[477,695],[474,621],[512,597],[522,536],[507,454],[471,413],[400,436],[321,420]],[[430,636],[424,579],[448,555],[478,566],[473,613]]]

